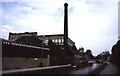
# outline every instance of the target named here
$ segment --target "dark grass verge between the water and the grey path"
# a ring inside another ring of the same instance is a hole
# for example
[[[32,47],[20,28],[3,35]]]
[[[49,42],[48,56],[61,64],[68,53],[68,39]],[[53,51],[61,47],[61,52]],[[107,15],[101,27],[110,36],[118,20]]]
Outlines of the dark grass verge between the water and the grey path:
[[[103,64],[101,66],[99,66],[98,68],[92,70],[89,72],[89,76],[97,76],[98,74],[100,74],[100,72],[102,72],[104,70],[104,68],[107,66],[107,64]]]

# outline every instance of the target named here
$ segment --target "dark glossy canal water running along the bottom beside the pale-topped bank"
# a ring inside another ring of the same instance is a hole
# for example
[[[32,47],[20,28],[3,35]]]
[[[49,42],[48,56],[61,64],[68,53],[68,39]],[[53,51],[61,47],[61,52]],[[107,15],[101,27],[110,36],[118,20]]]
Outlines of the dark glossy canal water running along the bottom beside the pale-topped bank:
[[[65,65],[65,66],[69,66],[69,65]],[[24,69],[24,70],[20,70],[20,72],[17,72],[17,70],[16,72],[11,72],[11,73],[6,72],[6,74],[88,74],[89,71],[97,68],[98,66],[99,64],[93,64],[91,66],[86,66],[78,70],[69,70],[70,68],[40,70],[40,68],[34,68],[34,69],[29,69],[29,71],[26,71],[26,69]]]

